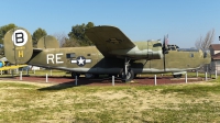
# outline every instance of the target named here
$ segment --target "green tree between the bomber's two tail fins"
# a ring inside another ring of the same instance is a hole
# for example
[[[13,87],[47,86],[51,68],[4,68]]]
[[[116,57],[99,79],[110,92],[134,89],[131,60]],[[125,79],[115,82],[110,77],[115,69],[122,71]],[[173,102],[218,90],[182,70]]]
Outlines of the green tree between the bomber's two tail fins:
[[[46,35],[47,35],[46,31],[38,27],[32,35],[33,45],[36,45],[38,40],[43,36],[46,36]]]

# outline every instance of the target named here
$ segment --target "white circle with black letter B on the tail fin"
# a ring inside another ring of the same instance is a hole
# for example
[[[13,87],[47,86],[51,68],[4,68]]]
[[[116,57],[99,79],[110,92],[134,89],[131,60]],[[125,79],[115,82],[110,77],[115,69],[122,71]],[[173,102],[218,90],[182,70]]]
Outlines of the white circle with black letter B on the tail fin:
[[[11,38],[15,46],[23,46],[28,42],[28,34],[24,30],[16,30]]]

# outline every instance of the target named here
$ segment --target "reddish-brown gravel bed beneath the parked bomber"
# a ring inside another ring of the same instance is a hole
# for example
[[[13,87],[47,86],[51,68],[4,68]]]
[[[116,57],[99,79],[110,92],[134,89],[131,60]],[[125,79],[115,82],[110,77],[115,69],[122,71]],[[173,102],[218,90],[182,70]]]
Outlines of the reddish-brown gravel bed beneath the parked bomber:
[[[20,77],[13,78],[0,78],[2,80],[20,80]],[[31,82],[46,82],[45,77],[22,77],[22,81],[31,81]],[[187,82],[197,82],[202,81],[202,78],[188,78]],[[59,85],[75,85],[75,79],[70,77],[48,77],[48,83],[59,83]],[[173,78],[173,77],[157,77],[157,85],[167,85],[167,83],[184,83],[186,82],[185,78]],[[78,86],[111,86],[111,78],[98,78],[98,79],[87,79],[84,77],[79,77],[77,80]],[[138,77],[131,82],[122,82],[121,79],[117,78],[114,80],[116,86],[151,86],[154,85],[154,77]]]

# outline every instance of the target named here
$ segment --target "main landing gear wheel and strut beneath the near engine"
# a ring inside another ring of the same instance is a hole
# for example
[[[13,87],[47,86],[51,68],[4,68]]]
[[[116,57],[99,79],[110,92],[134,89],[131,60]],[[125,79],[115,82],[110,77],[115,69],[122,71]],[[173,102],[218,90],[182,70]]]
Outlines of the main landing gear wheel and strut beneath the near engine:
[[[130,68],[130,64],[129,63],[130,63],[130,59],[128,59],[125,57],[125,59],[124,59],[124,68],[120,74],[121,75],[121,79],[122,79],[123,82],[131,81],[134,78],[134,72]]]

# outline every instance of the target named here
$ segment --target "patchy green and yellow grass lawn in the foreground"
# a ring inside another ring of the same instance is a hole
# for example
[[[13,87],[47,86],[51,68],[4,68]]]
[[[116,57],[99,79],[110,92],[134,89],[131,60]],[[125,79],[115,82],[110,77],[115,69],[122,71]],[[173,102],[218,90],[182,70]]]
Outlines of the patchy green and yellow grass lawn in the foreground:
[[[220,122],[219,81],[65,88],[0,80],[0,122]]]

